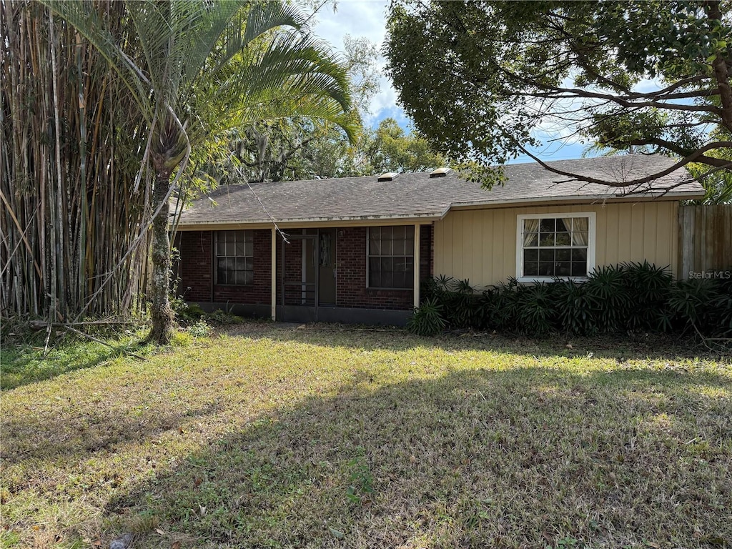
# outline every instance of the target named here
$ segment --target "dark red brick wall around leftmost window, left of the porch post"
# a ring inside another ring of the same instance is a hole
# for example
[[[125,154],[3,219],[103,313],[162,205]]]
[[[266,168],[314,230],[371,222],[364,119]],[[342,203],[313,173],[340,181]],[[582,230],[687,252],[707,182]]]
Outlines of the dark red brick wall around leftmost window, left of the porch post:
[[[180,262],[178,276],[179,294],[183,294],[190,302],[234,302],[247,305],[269,305],[270,280],[272,277],[271,242],[269,230],[254,231],[254,280],[247,285],[217,285],[213,287],[214,255],[212,242],[215,234],[212,231],[182,231],[178,249]],[[189,289],[190,288],[190,289]]]

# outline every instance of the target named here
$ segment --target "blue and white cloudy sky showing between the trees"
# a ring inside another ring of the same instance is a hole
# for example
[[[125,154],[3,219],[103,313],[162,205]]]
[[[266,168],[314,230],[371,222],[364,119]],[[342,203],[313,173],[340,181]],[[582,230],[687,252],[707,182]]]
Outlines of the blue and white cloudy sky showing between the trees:
[[[365,37],[376,44],[381,51],[386,34],[386,12],[389,2],[384,0],[337,0],[336,10],[326,6],[315,16],[315,34],[329,42],[337,51],[343,51],[343,37],[350,34],[353,38]],[[386,62],[380,59],[379,67],[384,69]],[[381,91],[371,100],[371,116],[367,119],[373,127],[381,120],[391,116],[405,130],[411,129],[409,119],[397,104],[397,92],[385,75],[381,76]],[[547,135],[538,134],[542,141]],[[567,160],[580,158],[584,146],[580,143],[545,143],[531,152],[542,160]],[[531,162],[529,157],[520,157],[515,162]]]

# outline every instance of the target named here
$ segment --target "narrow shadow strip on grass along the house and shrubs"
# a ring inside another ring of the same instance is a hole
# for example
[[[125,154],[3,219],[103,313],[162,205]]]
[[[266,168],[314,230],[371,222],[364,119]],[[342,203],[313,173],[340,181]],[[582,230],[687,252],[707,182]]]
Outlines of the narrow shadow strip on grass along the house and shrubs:
[[[465,332],[436,337],[419,337],[400,328],[361,328],[339,324],[294,324],[251,322],[224,326],[220,333],[234,337],[269,337],[313,345],[363,348],[367,351],[406,351],[415,347],[440,348],[446,351],[498,351],[530,356],[630,360],[717,360],[732,365],[732,355],[709,348],[692,337],[679,335],[631,333],[594,337],[525,337],[521,335]],[[568,346],[569,345],[569,346]]]

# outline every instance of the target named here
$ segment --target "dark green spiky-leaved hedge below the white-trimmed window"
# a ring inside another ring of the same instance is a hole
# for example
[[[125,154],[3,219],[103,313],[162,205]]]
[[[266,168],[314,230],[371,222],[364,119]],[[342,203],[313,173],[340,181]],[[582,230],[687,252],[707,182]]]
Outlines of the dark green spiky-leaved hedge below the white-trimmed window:
[[[507,283],[477,292],[468,280],[436,277],[408,324],[420,335],[452,329],[524,335],[646,330],[732,337],[732,280],[675,281],[647,262],[596,269],[588,280]]]

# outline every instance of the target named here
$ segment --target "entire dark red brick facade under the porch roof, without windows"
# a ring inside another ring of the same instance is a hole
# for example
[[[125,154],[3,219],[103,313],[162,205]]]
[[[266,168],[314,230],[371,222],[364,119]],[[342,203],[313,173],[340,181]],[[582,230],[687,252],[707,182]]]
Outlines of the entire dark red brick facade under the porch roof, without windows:
[[[296,234],[296,230],[290,231]],[[344,227],[336,233],[336,305],[364,309],[411,310],[412,290],[386,290],[366,287],[365,227]],[[180,252],[177,265],[179,294],[189,302],[241,303],[269,305],[271,299],[271,243],[268,229],[254,231],[254,281],[248,285],[216,285],[213,231],[182,231],[176,245]],[[277,239],[277,267],[282,264],[283,242]],[[288,280],[302,275],[302,240],[292,239],[285,253]],[[433,276],[433,227],[422,225],[419,239],[419,276]],[[277,277],[277,305],[281,303],[281,274]],[[293,293],[294,292],[294,293]],[[299,303],[298,288],[288,289],[287,302]]]

